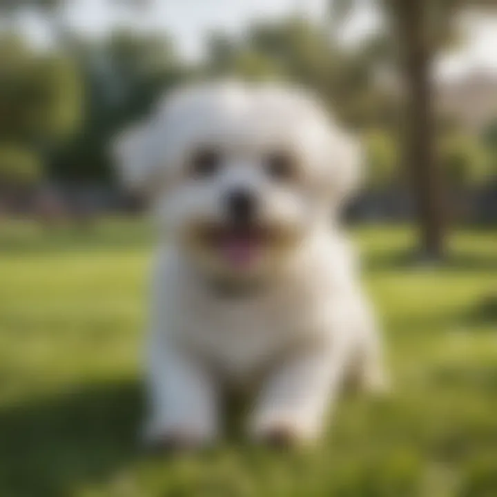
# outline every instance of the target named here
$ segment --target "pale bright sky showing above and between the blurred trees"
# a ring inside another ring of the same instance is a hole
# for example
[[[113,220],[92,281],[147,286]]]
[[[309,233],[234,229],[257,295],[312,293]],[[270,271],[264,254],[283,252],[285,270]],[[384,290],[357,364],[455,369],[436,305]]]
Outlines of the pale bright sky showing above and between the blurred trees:
[[[322,19],[327,3],[327,0],[143,1],[148,3],[147,8],[130,9],[110,6],[109,0],[69,0],[64,19],[75,30],[95,37],[119,25],[137,30],[166,30],[186,57],[196,59],[202,57],[203,37],[209,30],[221,29],[237,35],[253,19],[277,19],[291,12]],[[48,39],[43,31],[46,28],[35,17],[26,15],[22,22],[37,41]],[[347,43],[357,43],[379,23],[378,12],[362,8],[343,27],[342,37]],[[472,70],[497,73],[497,19],[473,15],[465,19],[464,28],[465,46],[440,60],[438,74],[454,79]]]

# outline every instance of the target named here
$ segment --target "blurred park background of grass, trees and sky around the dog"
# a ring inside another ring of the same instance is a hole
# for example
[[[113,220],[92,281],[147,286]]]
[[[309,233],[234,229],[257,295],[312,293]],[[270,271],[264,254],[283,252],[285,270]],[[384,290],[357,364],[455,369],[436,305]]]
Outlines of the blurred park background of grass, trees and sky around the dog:
[[[497,3],[0,1],[0,494],[497,494]],[[361,137],[346,221],[394,389],[313,451],[139,451],[153,233],[110,141],[186,81],[318,93]]]

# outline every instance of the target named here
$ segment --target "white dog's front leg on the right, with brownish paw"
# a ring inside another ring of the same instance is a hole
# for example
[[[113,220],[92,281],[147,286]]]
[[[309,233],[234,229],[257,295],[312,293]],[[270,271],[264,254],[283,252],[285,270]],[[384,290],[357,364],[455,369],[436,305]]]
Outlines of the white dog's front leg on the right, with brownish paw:
[[[250,420],[256,440],[291,445],[319,436],[347,372],[351,344],[342,342],[300,351],[269,377]]]

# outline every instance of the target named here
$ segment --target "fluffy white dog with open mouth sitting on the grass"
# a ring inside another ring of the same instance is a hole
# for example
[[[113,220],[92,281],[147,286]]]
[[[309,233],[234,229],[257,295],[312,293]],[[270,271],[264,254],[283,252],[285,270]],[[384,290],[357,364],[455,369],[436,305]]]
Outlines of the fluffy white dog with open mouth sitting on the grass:
[[[337,214],[360,151],[304,92],[222,82],[174,92],[119,139],[159,222],[148,342],[152,442],[220,434],[220,396],[257,386],[255,440],[319,435],[351,369],[384,387],[380,340]]]

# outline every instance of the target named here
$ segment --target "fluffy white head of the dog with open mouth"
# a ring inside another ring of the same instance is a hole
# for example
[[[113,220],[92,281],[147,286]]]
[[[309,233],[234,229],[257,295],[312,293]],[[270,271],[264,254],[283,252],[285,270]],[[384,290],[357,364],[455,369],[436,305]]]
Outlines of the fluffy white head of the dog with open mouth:
[[[119,138],[117,155],[170,240],[202,271],[235,280],[268,274],[330,222],[360,162],[309,95],[232,82],[168,96]]]

